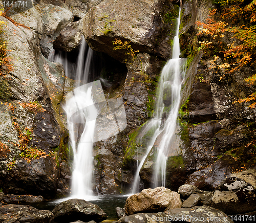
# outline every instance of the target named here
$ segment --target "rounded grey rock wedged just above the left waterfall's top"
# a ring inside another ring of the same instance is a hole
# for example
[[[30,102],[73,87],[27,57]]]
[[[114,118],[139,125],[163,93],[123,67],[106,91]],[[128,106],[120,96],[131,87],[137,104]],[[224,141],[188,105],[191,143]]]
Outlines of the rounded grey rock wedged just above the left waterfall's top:
[[[70,52],[76,49],[82,39],[82,21],[68,24],[53,41],[53,49]]]

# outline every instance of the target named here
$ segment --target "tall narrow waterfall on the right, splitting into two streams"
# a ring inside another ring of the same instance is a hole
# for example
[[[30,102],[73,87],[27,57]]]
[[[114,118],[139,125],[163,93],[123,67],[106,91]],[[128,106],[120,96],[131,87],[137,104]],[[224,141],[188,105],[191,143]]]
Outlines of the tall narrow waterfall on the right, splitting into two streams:
[[[157,151],[157,159],[153,174],[154,183],[152,187],[155,188],[157,186],[165,186],[167,155],[169,145],[172,141],[177,126],[181,84],[186,71],[186,60],[179,58],[180,14],[181,9],[179,10],[179,17],[177,19],[178,22],[176,34],[174,37],[173,57],[172,59],[168,60],[161,73],[154,118],[150,120],[149,123],[146,123],[142,134],[145,135],[146,132],[154,130],[154,135],[152,136],[151,141],[148,143],[146,153],[137,168],[132,193],[138,192],[140,182],[140,169],[142,168],[148,153],[150,153],[150,151],[152,150],[152,147],[157,137],[161,137],[161,142]],[[162,124],[162,115],[164,113],[164,108],[166,107],[169,107],[168,118],[165,120],[164,124]]]

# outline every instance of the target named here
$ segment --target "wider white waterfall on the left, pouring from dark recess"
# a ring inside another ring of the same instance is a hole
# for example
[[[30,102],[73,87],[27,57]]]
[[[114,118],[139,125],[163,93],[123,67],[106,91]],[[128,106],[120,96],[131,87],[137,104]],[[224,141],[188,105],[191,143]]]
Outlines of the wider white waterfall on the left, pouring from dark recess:
[[[74,76],[76,88],[67,94],[64,107],[67,114],[67,127],[70,135],[70,147],[73,150],[74,162],[71,182],[71,193],[74,198],[92,200],[93,176],[93,142],[96,118],[99,107],[95,105],[95,93],[99,91],[100,81],[88,83],[93,51],[82,37],[79,47],[76,68],[66,52],[51,50],[48,59],[63,65],[66,76]],[[84,60],[86,58],[86,60]],[[74,73],[75,71],[75,73]],[[102,98],[98,94],[95,97]],[[103,95],[104,98],[104,95]],[[99,100],[98,100],[99,101]]]

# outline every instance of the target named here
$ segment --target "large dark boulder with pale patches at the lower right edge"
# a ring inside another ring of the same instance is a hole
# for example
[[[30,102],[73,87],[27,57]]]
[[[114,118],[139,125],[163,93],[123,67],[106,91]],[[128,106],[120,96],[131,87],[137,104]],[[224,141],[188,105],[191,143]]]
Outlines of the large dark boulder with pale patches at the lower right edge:
[[[219,185],[205,205],[226,214],[243,214],[256,211],[256,170],[233,173]]]

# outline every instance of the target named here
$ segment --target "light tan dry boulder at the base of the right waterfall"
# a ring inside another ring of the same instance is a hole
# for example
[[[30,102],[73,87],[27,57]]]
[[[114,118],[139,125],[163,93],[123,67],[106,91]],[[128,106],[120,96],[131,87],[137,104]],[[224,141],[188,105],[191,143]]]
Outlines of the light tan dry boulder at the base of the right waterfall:
[[[181,207],[182,202],[177,192],[165,187],[144,189],[126,199],[124,210],[126,215],[139,212],[159,212]]]

